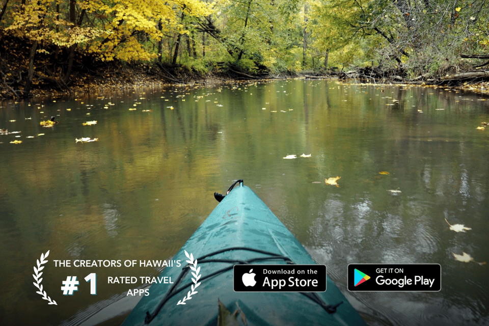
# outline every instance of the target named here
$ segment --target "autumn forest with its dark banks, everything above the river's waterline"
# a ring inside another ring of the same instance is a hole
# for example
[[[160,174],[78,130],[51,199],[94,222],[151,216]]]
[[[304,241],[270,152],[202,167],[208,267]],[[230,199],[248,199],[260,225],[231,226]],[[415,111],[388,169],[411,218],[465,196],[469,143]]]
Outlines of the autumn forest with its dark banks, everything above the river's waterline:
[[[179,82],[182,71],[253,79],[336,70],[364,81],[419,83],[489,76],[485,0],[2,0],[0,6],[3,97],[43,86],[71,92],[75,80],[136,66],[169,82]]]

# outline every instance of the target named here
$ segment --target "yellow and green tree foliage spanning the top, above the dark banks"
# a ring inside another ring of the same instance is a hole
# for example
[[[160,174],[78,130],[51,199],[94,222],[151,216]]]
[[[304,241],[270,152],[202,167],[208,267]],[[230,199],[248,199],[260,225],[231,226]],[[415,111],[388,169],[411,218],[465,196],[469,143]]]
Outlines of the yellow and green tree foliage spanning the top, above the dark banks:
[[[330,66],[402,63],[419,75],[467,65],[461,53],[487,53],[488,21],[484,0],[10,0],[2,24],[106,61],[178,57],[198,72],[219,62],[279,73],[323,68],[329,55]]]

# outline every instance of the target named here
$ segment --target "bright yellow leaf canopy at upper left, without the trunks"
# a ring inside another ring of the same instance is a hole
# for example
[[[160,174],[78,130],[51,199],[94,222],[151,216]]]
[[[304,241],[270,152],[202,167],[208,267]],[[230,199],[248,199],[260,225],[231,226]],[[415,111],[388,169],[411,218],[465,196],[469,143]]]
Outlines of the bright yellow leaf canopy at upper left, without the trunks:
[[[100,53],[103,60],[151,60],[156,55],[149,53],[138,42],[137,35],[145,34],[160,40],[162,32],[188,33],[181,21],[181,13],[187,16],[211,14],[209,6],[200,0],[164,1],[115,0],[111,5],[101,0],[77,2],[79,9],[93,14],[98,28],[74,26],[66,15],[56,12],[48,0],[39,0],[22,5],[23,10],[13,16],[7,30],[31,40],[51,42],[60,47],[80,45],[90,52]],[[158,21],[163,22],[162,31]],[[101,24],[103,22],[103,25]],[[41,50],[42,51],[42,50]]]

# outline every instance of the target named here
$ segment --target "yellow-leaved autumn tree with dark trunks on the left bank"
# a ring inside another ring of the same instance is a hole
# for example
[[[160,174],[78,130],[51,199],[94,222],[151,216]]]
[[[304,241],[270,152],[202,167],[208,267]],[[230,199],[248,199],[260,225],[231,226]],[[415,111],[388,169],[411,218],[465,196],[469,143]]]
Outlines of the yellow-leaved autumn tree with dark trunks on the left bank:
[[[14,0],[15,1],[15,0]],[[208,15],[199,0],[162,1],[69,0],[62,3],[38,0],[2,7],[7,31],[32,42],[25,69],[23,95],[30,92],[36,75],[40,80],[68,88],[75,49],[85,50],[101,60],[149,61],[157,52],[148,46],[167,33],[186,33],[182,17]],[[4,16],[5,15],[5,16]],[[64,66],[35,71],[36,53],[65,53]]]

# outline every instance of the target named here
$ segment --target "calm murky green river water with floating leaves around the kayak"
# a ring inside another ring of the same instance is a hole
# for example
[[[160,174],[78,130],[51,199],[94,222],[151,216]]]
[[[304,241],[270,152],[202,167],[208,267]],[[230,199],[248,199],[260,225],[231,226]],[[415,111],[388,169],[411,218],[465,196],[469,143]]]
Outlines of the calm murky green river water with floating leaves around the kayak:
[[[328,266],[369,324],[487,324],[485,99],[285,80],[0,102],[0,129],[20,131],[0,135],[0,324],[77,324],[125,297],[141,282],[108,277],[158,275],[124,263],[170,260],[216,206],[214,191],[236,179]],[[51,116],[59,124],[41,127]],[[336,176],[338,186],[324,182]],[[463,253],[469,261],[455,259]],[[442,288],[349,292],[350,263],[439,263]],[[73,295],[60,290],[68,276],[80,282]]]

